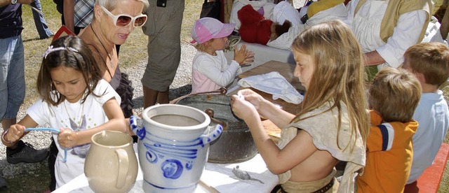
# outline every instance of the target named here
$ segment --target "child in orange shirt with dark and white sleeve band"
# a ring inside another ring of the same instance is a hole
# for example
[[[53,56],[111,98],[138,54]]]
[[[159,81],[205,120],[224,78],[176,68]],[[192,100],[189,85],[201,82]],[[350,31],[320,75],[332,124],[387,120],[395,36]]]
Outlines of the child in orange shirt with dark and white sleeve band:
[[[388,67],[374,76],[368,91],[366,166],[356,178],[357,192],[403,192],[412,166],[412,136],[418,126],[412,117],[420,94],[420,82],[404,69]]]

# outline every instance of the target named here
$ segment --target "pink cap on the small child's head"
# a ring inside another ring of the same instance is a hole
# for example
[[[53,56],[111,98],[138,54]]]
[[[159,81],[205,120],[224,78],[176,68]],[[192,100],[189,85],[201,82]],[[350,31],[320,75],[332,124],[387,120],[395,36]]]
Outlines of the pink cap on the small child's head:
[[[212,38],[223,38],[231,35],[236,24],[223,24],[212,17],[203,17],[196,20],[192,28],[192,38],[190,43],[205,43]]]

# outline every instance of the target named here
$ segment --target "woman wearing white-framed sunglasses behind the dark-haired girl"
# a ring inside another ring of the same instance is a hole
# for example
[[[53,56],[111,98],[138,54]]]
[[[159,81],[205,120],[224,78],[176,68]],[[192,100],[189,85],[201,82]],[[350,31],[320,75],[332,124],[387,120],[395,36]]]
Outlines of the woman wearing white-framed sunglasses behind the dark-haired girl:
[[[147,0],[97,0],[93,21],[79,34],[91,47],[103,79],[121,96],[125,117],[133,115],[133,87],[128,75],[119,69],[115,45],[125,43],[135,27],[145,24],[147,15],[142,12],[148,6]]]

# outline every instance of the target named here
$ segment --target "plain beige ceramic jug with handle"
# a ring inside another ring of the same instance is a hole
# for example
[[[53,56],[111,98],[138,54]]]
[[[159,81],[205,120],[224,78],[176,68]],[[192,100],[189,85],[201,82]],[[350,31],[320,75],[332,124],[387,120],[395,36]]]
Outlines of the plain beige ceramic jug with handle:
[[[100,131],[92,136],[84,173],[94,192],[128,192],[138,175],[133,138],[119,131]]]

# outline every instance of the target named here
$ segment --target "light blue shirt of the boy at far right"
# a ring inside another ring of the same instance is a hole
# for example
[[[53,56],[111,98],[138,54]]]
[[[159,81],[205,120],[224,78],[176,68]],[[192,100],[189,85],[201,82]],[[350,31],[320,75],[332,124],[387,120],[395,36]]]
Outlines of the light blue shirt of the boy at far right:
[[[422,93],[413,119],[419,125],[413,135],[413,163],[407,184],[420,178],[431,166],[449,127],[449,110],[443,92]]]

